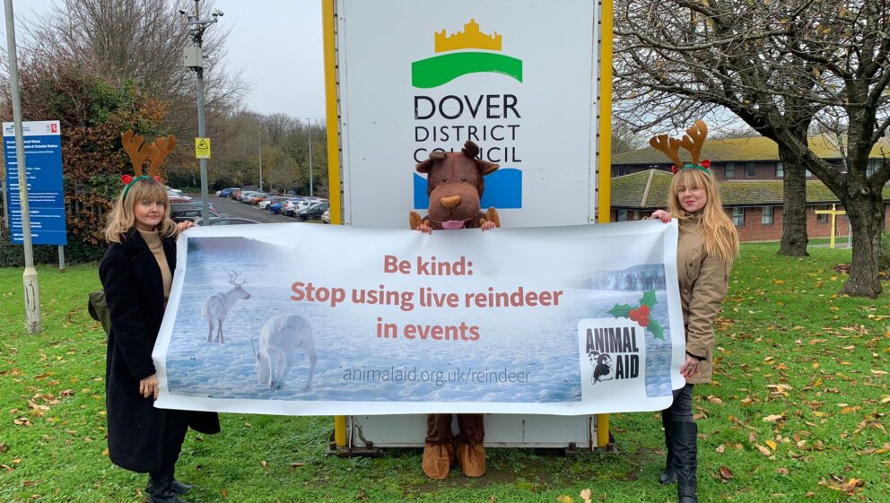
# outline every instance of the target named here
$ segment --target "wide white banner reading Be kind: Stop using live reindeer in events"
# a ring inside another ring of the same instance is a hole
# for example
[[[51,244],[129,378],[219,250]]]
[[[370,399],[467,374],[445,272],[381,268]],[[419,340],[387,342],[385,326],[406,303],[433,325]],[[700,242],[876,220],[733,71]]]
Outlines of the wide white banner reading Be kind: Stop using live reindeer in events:
[[[663,409],[683,385],[676,236],[660,221],[432,236],[193,228],[179,238],[153,353],[157,404],[292,415]]]

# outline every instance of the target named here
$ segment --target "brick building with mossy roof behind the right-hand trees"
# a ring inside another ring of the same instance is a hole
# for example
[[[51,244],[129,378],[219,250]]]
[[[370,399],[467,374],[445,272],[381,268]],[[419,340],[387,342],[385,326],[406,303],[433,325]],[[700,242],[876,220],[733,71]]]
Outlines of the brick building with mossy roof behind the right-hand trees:
[[[824,137],[809,140],[810,148],[843,170],[841,155]],[[881,150],[890,152],[890,143],[878,143],[868,163],[869,174],[883,161]],[[682,155],[681,151],[681,155]],[[702,159],[711,160],[711,170],[720,180],[723,206],[736,223],[742,241],[781,239],[782,181],[784,171],[776,143],[768,138],[726,138],[704,144]],[[611,221],[639,220],[659,208],[667,208],[667,191],[673,175],[664,153],[651,147],[615,155],[612,160]],[[885,228],[890,228],[890,186],[885,189]],[[831,216],[816,214],[842,210],[836,195],[818,178],[807,172],[807,234],[823,238],[831,234]],[[849,221],[837,217],[837,236],[847,236]]]

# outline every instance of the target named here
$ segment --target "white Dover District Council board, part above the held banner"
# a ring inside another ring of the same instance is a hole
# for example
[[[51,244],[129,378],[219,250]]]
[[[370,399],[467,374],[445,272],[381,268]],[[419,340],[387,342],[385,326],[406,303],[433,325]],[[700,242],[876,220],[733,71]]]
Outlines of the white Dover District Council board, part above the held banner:
[[[467,140],[501,166],[485,177],[482,206],[504,226],[593,221],[596,2],[336,0],[336,9],[345,223],[405,227],[409,210],[428,206],[414,166]]]

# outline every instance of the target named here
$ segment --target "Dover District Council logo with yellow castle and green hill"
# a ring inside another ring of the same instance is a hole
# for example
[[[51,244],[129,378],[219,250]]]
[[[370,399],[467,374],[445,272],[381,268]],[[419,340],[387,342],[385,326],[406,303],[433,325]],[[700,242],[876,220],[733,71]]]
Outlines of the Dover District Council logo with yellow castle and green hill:
[[[453,152],[454,146],[471,140],[480,146],[479,156],[501,165],[485,178],[482,207],[519,209],[522,207],[522,163],[518,147],[522,114],[519,94],[521,59],[502,54],[501,33],[484,33],[475,19],[464,29],[433,34],[436,56],[411,64],[411,85],[430,90],[415,94],[414,162],[423,162],[430,152]],[[459,92],[462,78],[470,74],[492,74],[492,79],[472,92]],[[482,89],[484,87],[484,89]],[[494,89],[491,89],[494,88]],[[414,173],[414,208],[429,207],[426,180]]]

